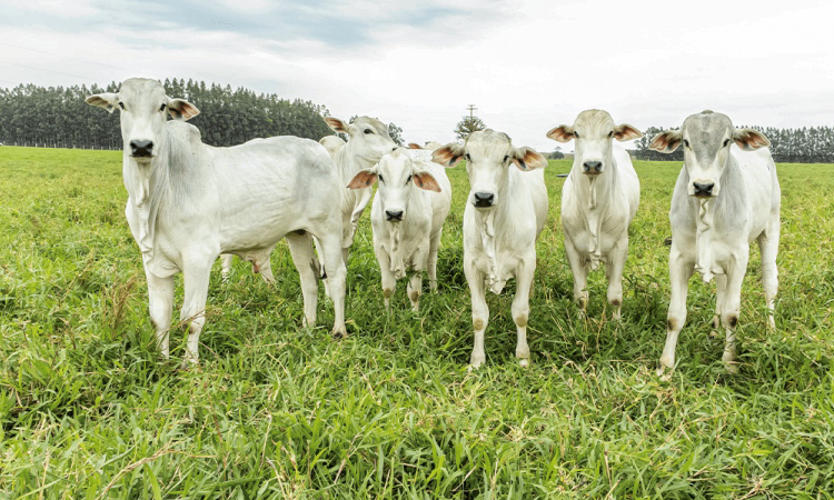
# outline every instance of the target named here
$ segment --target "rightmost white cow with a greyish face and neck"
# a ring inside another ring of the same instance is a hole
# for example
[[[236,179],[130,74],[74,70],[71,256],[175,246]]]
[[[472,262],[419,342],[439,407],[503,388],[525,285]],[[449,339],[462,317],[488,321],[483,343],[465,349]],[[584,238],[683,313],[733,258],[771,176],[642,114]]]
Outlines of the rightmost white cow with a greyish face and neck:
[[[717,301],[713,327],[724,324],[726,342],[722,357],[731,372],[735,361],[735,327],[742,301],[742,281],[747,270],[749,244],[758,242],[762,280],[773,319],[776,297],[776,253],[780,242],[782,191],[762,133],[736,129],[725,114],[704,111],[684,121],[681,130],[658,133],[652,140],[655,151],[671,153],[684,147],[684,168],[672,194],[672,249],[669,277],[672,299],[666,329],[666,347],[658,374],[675,367],[677,336],[686,322],[687,283],[693,271],[705,282],[713,277]]]

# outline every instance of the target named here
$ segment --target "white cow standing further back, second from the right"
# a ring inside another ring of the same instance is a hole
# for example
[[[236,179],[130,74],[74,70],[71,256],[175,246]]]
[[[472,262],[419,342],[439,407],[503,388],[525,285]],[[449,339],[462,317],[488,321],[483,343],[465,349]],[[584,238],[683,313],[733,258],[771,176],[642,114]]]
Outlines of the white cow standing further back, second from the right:
[[[559,126],[547,137],[576,141],[574,166],[562,188],[565,251],[574,274],[574,299],[585,310],[588,272],[602,262],[608,278],[614,319],[623,307],[623,268],[628,256],[628,226],[637,213],[641,184],[628,153],[614,144],[643,134],[615,124],[606,111],[583,111],[573,126]]]

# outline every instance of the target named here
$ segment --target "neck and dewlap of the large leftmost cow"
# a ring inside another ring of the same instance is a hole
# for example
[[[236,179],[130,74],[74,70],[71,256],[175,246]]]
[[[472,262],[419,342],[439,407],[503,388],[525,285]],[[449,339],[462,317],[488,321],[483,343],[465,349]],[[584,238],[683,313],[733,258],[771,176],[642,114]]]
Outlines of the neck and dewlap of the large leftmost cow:
[[[169,184],[171,140],[166,128],[165,138],[159,142],[157,156],[150,162],[135,161],[128,151],[122,152],[122,177],[128,190],[128,202],[133,204],[139,217],[139,238],[137,243],[143,254],[152,256],[159,206]]]

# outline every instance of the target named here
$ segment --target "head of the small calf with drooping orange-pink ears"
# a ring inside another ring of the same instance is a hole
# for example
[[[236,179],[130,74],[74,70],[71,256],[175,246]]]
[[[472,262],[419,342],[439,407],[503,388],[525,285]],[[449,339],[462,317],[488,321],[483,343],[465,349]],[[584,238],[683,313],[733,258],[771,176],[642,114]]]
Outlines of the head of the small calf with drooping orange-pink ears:
[[[414,187],[440,192],[437,179],[426,168],[420,168],[420,162],[413,160],[403,148],[384,156],[373,168],[357,173],[348,188],[369,188],[377,181],[378,201],[374,202],[383,204],[383,214],[389,222],[400,222],[406,218]]]

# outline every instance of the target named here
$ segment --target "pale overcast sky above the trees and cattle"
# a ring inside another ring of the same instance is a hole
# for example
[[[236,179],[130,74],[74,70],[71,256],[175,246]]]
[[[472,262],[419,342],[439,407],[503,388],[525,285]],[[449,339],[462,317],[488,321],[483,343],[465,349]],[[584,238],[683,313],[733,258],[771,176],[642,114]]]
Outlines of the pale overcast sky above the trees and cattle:
[[[834,1],[2,0],[0,86],[130,77],[312,100],[415,142],[454,140],[467,104],[543,151],[589,108],[832,126]]]

